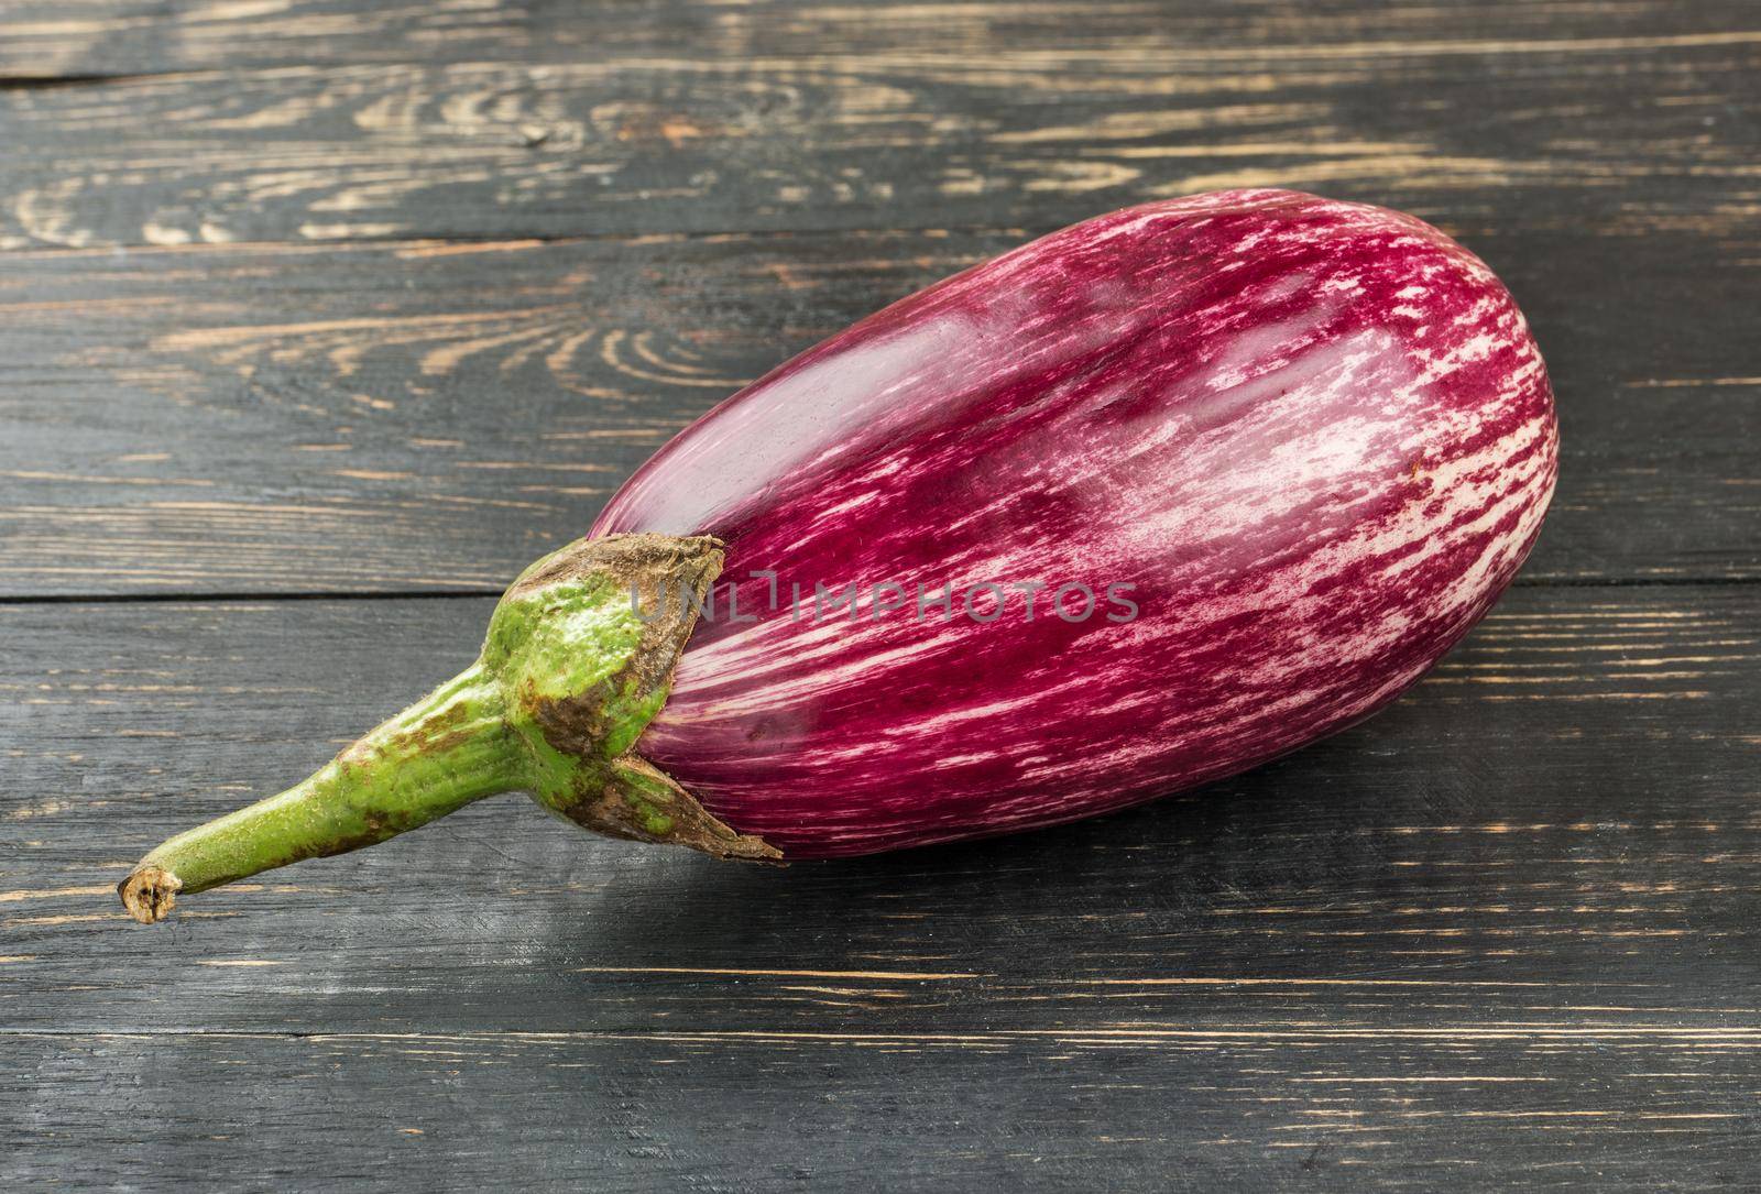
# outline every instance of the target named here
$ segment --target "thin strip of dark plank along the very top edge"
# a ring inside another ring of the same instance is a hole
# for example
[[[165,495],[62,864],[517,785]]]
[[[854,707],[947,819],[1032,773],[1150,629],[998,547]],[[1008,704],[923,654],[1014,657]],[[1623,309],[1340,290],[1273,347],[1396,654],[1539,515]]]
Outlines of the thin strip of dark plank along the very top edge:
[[[983,55],[1118,44],[1455,46],[1534,53],[1571,35],[1703,42],[1750,25],[1745,0],[9,0],[0,77],[16,83],[278,65],[578,63],[828,51]],[[1514,42],[1514,46],[1507,46]]]

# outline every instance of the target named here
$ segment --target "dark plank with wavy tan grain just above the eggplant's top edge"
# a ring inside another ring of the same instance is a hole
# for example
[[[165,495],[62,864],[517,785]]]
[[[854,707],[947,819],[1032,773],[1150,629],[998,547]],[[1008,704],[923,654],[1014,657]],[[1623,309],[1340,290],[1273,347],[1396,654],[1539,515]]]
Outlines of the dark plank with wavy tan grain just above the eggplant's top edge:
[[[622,51],[593,16],[541,21],[530,46],[593,41],[556,63],[12,86],[0,247],[1048,227],[1240,185],[1522,229],[1756,227],[1752,5],[1611,26],[1583,4],[1116,4],[1074,42],[1088,23],[1058,7],[623,5],[613,28],[648,32]],[[1011,32],[1023,14],[1041,35]]]

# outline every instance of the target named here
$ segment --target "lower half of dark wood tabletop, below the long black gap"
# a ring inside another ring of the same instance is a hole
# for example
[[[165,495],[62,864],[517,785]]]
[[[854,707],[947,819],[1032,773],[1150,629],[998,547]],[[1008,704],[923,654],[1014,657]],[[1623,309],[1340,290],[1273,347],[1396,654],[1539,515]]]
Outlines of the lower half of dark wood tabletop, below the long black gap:
[[[0,609],[0,1176],[298,1183],[296,1139],[442,1189],[1752,1162],[1756,586],[1513,592],[1382,717],[1058,831],[771,870],[504,798],[114,914],[129,859],[446,678],[488,608]]]

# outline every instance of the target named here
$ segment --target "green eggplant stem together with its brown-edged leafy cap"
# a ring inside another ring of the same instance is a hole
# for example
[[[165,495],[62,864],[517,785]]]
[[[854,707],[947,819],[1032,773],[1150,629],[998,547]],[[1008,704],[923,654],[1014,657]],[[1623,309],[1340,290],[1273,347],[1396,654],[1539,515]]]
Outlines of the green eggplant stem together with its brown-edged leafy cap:
[[[549,553],[497,602],[475,664],[305,784],[155,849],[118,884],[123,905],[150,925],[180,891],[373,845],[512,789],[608,837],[777,859],[636,754],[720,571],[708,535],[606,535]]]

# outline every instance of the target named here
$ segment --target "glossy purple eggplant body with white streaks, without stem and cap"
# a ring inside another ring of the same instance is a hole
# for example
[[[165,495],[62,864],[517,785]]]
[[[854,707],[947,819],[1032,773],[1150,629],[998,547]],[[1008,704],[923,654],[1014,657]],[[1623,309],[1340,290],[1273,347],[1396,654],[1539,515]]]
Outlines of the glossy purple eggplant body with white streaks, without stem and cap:
[[[1122,808],[1374,713],[1509,585],[1557,456],[1541,354],[1477,257],[1382,208],[1233,190],[861,321],[682,431],[593,534],[727,544],[639,750],[826,858]],[[791,583],[984,581],[1129,585],[1138,615],[787,608]]]

